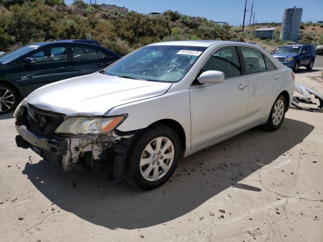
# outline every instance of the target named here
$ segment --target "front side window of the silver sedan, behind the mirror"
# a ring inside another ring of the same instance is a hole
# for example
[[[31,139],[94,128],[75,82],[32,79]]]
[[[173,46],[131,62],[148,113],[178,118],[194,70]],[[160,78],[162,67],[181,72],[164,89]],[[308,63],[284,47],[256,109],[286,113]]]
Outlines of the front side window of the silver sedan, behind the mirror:
[[[216,50],[202,67],[201,73],[206,71],[220,71],[225,78],[241,75],[238,52],[235,46],[223,47]]]

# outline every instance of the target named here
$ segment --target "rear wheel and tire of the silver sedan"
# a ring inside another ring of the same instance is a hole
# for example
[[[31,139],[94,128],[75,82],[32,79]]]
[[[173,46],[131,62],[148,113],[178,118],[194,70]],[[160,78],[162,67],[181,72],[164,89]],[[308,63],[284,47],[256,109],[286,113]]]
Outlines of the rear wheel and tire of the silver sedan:
[[[281,107],[281,104],[283,106]],[[271,109],[271,113],[268,117],[267,123],[263,125],[263,128],[268,131],[278,130],[283,124],[285,113],[286,113],[286,99],[284,95],[280,95],[274,102]],[[277,109],[278,108],[278,109]],[[275,118],[276,117],[276,118]]]

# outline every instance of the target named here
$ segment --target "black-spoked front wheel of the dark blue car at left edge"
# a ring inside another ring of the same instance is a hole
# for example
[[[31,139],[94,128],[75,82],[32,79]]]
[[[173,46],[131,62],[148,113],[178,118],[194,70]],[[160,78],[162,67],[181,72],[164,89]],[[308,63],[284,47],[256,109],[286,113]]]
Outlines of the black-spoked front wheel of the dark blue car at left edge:
[[[13,111],[18,102],[17,93],[13,88],[0,85],[0,114]]]

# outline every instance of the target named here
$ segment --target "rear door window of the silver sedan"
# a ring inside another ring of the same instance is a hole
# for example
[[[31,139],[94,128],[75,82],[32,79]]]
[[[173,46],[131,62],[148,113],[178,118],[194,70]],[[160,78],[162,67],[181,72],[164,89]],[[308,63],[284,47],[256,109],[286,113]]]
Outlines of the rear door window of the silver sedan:
[[[241,51],[246,64],[247,74],[266,71],[263,55],[259,50],[241,47]]]

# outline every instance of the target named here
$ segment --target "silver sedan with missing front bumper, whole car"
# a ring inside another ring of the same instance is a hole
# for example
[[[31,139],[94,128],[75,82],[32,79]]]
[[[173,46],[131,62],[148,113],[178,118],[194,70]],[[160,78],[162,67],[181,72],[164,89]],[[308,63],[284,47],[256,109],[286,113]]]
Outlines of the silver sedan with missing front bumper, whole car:
[[[295,75],[253,44],[144,46],[90,75],[43,86],[15,111],[18,147],[63,171],[79,164],[151,190],[181,157],[283,123]]]

